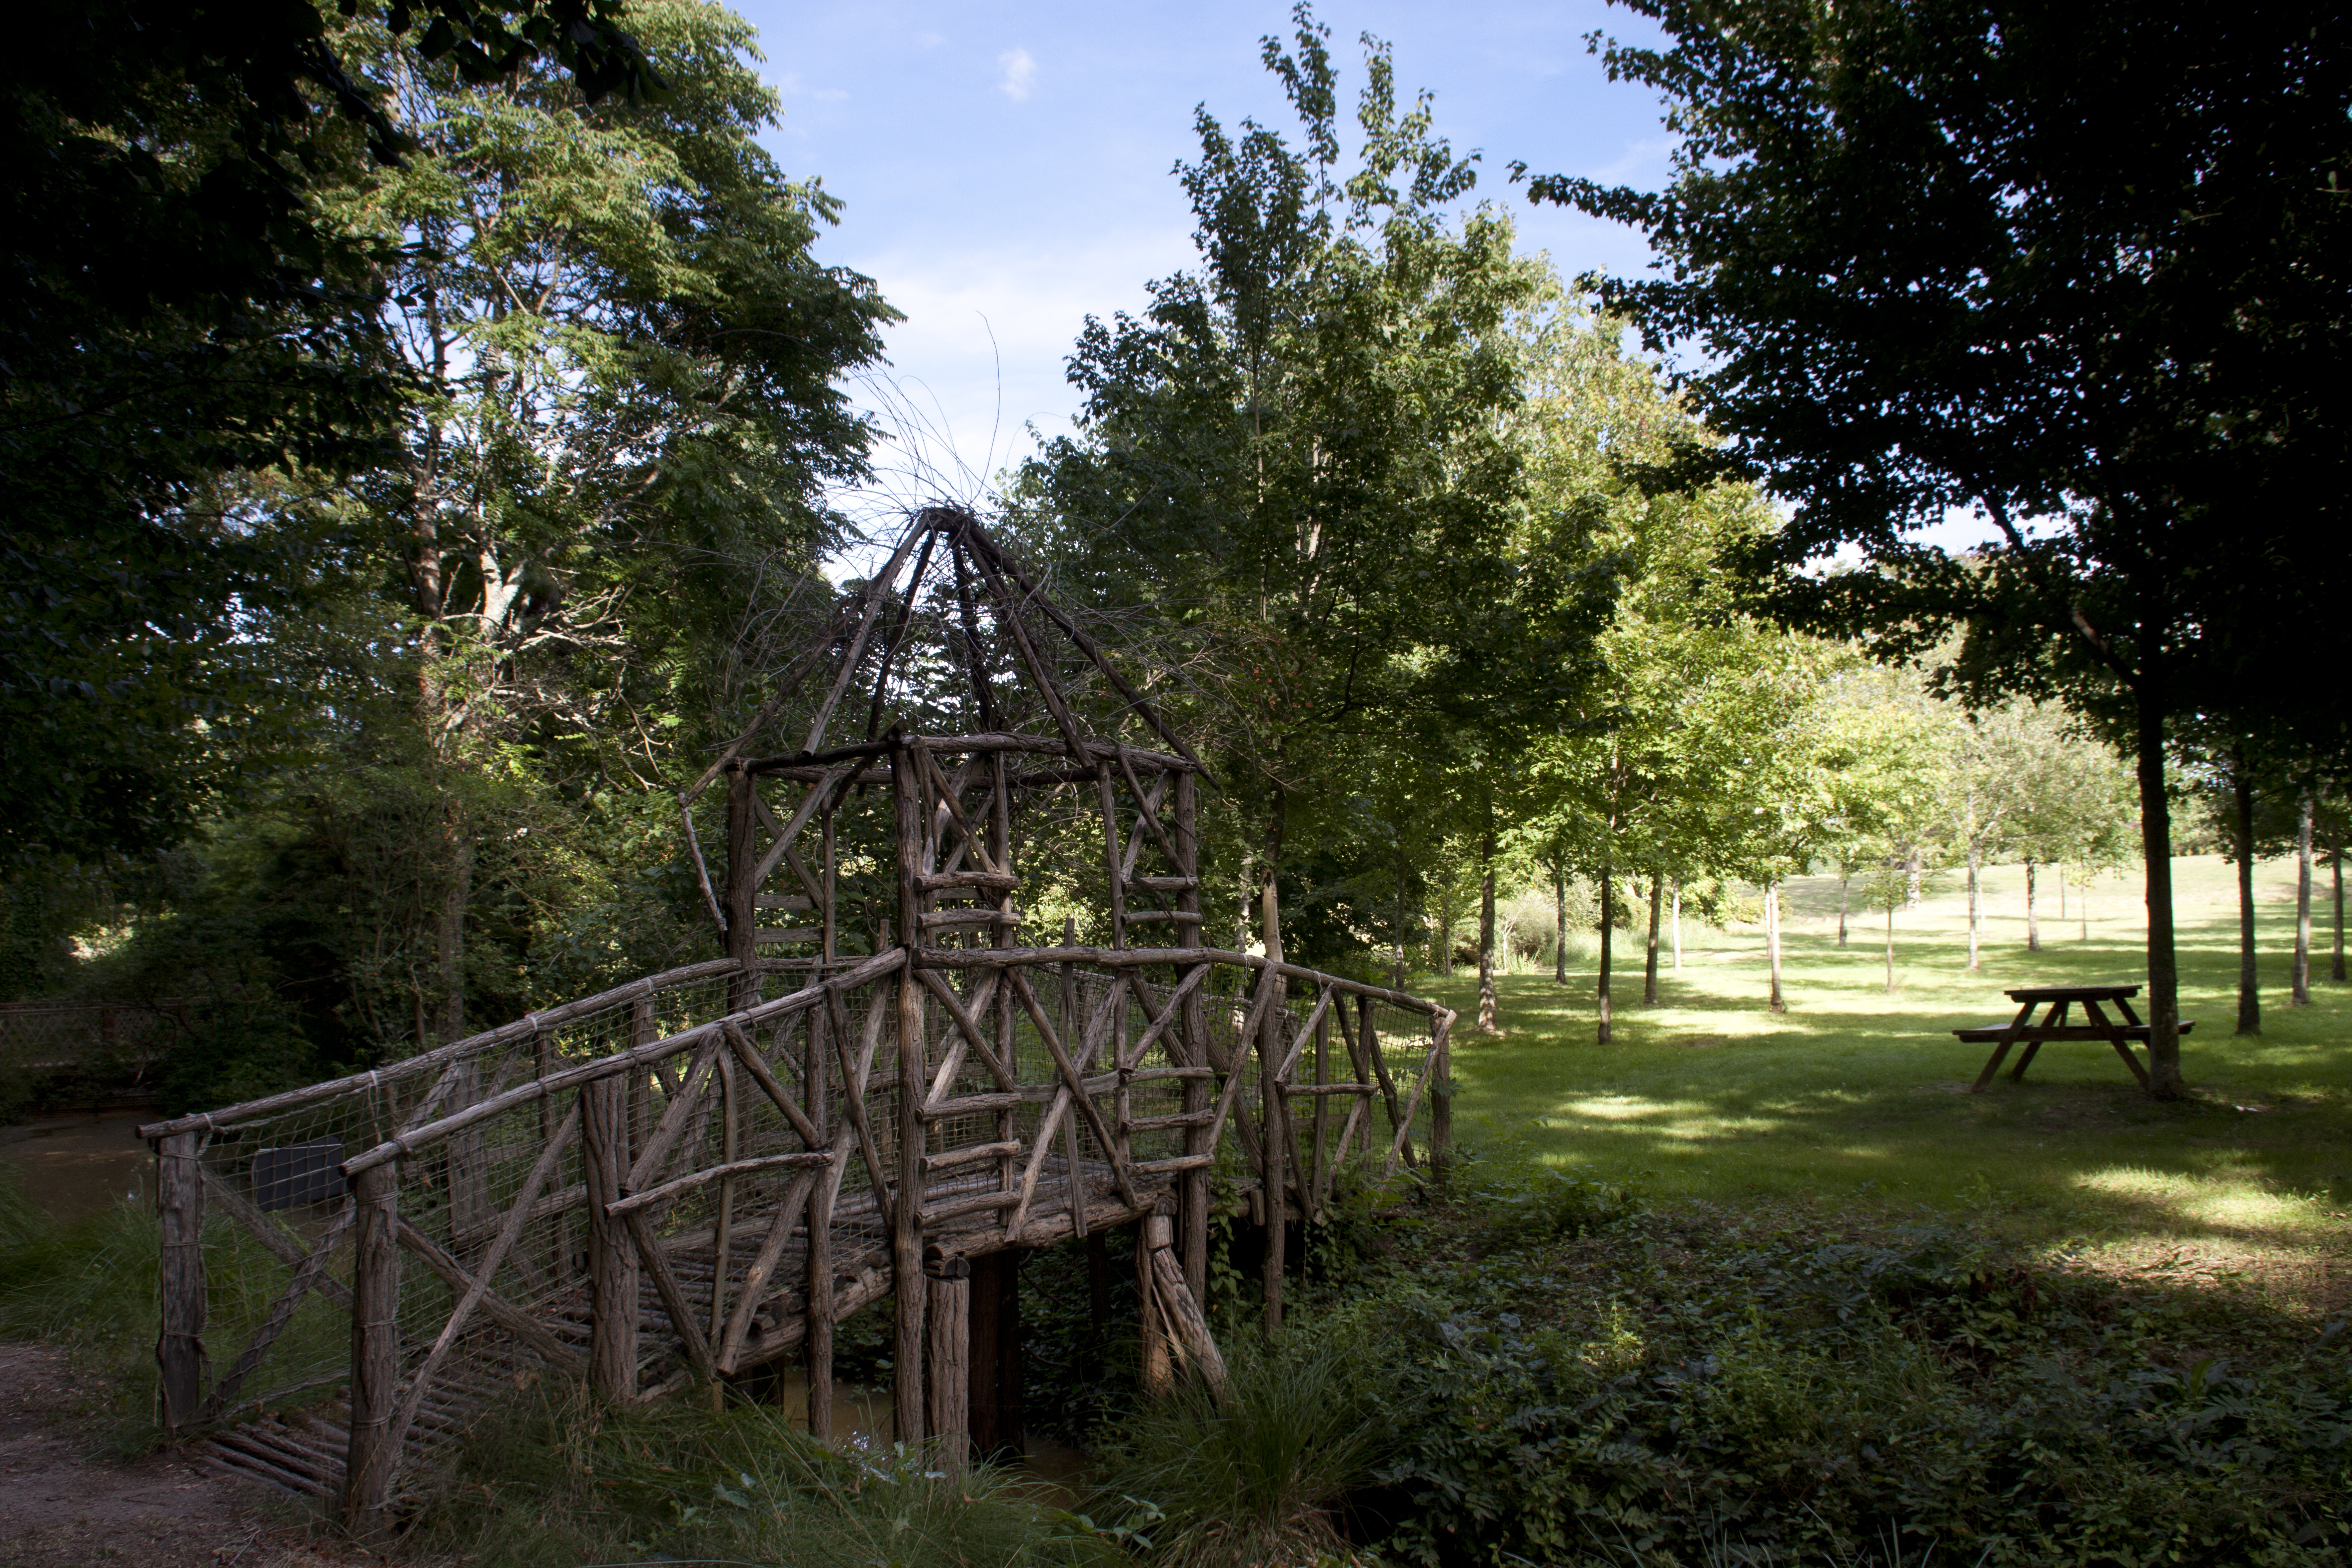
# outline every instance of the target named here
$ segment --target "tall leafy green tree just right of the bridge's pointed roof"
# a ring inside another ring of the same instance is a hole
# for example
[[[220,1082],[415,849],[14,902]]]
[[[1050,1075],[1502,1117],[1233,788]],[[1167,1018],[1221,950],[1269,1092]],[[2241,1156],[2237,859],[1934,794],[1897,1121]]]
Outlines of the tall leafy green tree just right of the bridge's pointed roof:
[[[1399,108],[1369,35],[1343,153],[1329,31],[1294,16],[1263,61],[1298,141],[1197,113],[1176,174],[1200,268],[1136,317],[1089,317],[1077,433],[1021,480],[1063,581],[1200,675],[1268,884],[1303,830],[1343,830],[1371,752],[1463,773],[1458,736],[1519,708],[1505,677],[1543,670],[1541,696],[1573,663],[1510,548],[1517,317],[1545,273],[1494,212],[1456,216],[1472,160],[1428,96]]]

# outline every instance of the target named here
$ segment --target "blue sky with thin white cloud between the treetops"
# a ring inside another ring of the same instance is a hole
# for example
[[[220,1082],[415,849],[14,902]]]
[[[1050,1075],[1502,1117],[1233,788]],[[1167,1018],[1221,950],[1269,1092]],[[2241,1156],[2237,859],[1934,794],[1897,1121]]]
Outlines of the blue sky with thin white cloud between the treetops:
[[[1065,428],[1063,357],[1089,313],[1143,303],[1192,263],[1192,219],[1169,176],[1197,150],[1192,108],[1289,129],[1258,38],[1289,35],[1282,2],[1197,5],[781,5],[736,0],[760,28],[786,118],[783,169],[847,202],[826,261],[873,275],[908,313],[891,371],[866,397],[903,400],[901,451],[978,482]],[[1639,235],[1529,207],[1508,165],[1656,186],[1668,134],[1656,99],[1611,82],[1595,28],[1646,24],[1566,5],[1324,5],[1343,92],[1362,85],[1357,33],[1395,47],[1399,96],[1428,87],[1437,129],[1482,150],[1479,195],[1508,205],[1522,244],[1564,273],[1644,266]],[[936,484],[934,484],[936,489]]]

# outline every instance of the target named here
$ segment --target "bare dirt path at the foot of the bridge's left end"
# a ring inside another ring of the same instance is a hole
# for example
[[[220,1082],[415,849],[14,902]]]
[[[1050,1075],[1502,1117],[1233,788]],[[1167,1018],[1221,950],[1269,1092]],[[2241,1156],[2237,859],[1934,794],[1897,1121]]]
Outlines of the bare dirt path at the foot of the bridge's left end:
[[[358,1568],[273,1493],[172,1453],[99,1460],[73,1436],[66,1359],[0,1345],[0,1568]]]

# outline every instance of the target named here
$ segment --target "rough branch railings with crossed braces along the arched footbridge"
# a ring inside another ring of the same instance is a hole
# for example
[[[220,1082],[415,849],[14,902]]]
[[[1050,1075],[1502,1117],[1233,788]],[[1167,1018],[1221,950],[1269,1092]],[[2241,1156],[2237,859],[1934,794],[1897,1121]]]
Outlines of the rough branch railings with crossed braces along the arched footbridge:
[[[1218,1187],[1315,1218],[1444,1157],[1451,1013],[1416,997],[1200,947],[802,969],[699,964],[143,1128],[169,1420],[381,1509],[534,1378],[647,1399],[797,1352],[830,1396],[833,1326],[908,1267],[1174,1204],[1195,1274]]]

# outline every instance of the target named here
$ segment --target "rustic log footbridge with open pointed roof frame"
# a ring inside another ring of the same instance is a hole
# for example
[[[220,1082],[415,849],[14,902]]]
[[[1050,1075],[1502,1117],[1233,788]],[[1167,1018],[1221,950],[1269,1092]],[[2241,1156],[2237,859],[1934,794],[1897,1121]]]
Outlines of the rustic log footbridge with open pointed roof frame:
[[[915,701],[917,663],[969,691]],[[868,684],[868,738],[826,745]],[[802,689],[802,745],[750,755]],[[941,717],[978,724],[915,726]],[[896,1436],[962,1462],[974,1432],[1018,1441],[1014,1255],[1117,1227],[1145,1387],[1221,1382],[1211,1211],[1268,1229],[1279,1316],[1291,1222],[1444,1161],[1454,1016],[1207,945],[1202,778],[976,520],[920,512],[682,795],[727,957],[143,1128],[167,1422],[374,1530],[426,1448],[534,1378],[642,1401],[797,1359],[830,1434],[835,1326],[889,1298]],[[1023,891],[1103,940],[1023,945]]]

